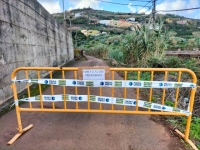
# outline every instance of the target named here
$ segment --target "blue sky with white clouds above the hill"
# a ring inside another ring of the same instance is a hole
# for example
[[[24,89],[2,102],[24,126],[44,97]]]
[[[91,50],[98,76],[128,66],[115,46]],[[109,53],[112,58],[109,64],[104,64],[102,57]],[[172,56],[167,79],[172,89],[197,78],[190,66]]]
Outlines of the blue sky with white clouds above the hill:
[[[63,11],[62,0],[38,0],[50,13],[57,13]],[[148,8],[141,8],[139,6],[132,5],[146,5],[148,2],[137,2],[131,0],[104,0],[115,3],[123,3],[127,5],[114,5],[96,0],[64,0],[65,10],[71,10],[75,8],[91,7],[94,9],[108,10],[113,12],[146,12],[149,14]],[[144,1],[144,0],[143,0]],[[148,0],[146,0],[148,1]],[[200,7],[200,0],[157,0],[156,10],[172,10],[172,9],[185,9]],[[147,4],[151,6],[151,3]],[[200,19],[200,9],[181,11],[181,12],[170,12],[180,16],[188,18]]]

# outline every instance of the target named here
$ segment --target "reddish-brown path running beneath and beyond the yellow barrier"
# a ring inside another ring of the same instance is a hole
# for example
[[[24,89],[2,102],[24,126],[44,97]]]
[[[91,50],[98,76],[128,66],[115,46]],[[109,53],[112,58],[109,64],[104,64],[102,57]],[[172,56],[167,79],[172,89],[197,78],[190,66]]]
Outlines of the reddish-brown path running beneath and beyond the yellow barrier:
[[[76,61],[71,66],[105,66],[104,61],[88,56],[87,61]],[[68,72],[66,78],[73,78]],[[115,79],[122,79],[115,74]],[[62,93],[62,87],[54,87],[55,94]],[[86,94],[86,88],[79,88],[79,94]],[[67,88],[73,94],[72,87]],[[43,94],[50,94],[47,89]],[[91,94],[98,95],[93,88]],[[110,96],[111,89],[103,90]],[[128,98],[134,98],[135,92],[129,90]],[[123,89],[115,90],[115,97],[123,97]],[[26,107],[27,104],[23,104]],[[50,104],[45,104],[49,107]],[[70,108],[75,103],[68,103]],[[80,104],[84,108],[86,104]],[[57,104],[57,108],[63,107]],[[99,107],[93,104],[92,108]],[[109,109],[110,106],[103,106]],[[122,109],[118,106],[115,109]],[[128,108],[133,109],[133,108]],[[23,127],[34,127],[20,137],[13,145],[6,143],[17,133],[15,111],[12,110],[0,118],[0,150],[183,150],[184,146],[177,137],[161,124],[150,119],[149,115],[116,115],[90,113],[22,113]]]

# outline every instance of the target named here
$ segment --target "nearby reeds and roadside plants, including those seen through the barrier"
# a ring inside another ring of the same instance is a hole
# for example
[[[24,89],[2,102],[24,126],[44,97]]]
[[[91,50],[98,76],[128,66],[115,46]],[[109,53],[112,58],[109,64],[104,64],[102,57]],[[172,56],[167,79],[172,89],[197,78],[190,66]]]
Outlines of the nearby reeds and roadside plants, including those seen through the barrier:
[[[160,27],[163,24],[160,23]],[[188,58],[181,59],[178,57],[165,57],[164,51],[171,45],[171,35],[174,33],[167,32],[162,28],[159,30],[150,30],[147,26],[142,26],[129,33],[102,34],[100,36],[89,36],[80,41],[78,49],[84,49],[86,54],[106,60],[115,60],[117,65],[124,64],[126,67],[148,67],[148,68],[189,68],[195,72],[200,71],[198,59]],[[151,37],[151,38],[150,38]],[[181,38],[178,39],[181,42]],[[170,76],[177,76],[177,73],[171,73]],[[185,77],[185,75],[182,75]],[[128,72],[128,80],[137,80],[137,72]],[[151,79],[149,72],[141,72],[140,80]],[[186,77],[188,80],[188,76]],[[142,92],[142,90],[141,90]],[[144,92],[144,91],[143,91]],[[145,95],[145,92],[144,92]],[[158,102],[158,98],[152,97],[152,102]],[[174,106],[171,100],[166,100],[165,105]],[[180,130],[185,127],[185,120],[170,117],[170,123],[177,126]],[[190,138],[193,141],[199,141],[199,119],[193,117]],[[199,146],[199,145],[198,145]]]

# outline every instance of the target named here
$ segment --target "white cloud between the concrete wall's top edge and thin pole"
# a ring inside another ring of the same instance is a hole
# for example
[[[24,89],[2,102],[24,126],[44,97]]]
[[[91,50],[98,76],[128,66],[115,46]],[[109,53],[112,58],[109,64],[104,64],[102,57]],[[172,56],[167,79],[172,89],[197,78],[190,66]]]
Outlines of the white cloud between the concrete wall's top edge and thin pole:
[[[39,0],[38,1],[50,14],[62,12],[59,1],[57,0]]]

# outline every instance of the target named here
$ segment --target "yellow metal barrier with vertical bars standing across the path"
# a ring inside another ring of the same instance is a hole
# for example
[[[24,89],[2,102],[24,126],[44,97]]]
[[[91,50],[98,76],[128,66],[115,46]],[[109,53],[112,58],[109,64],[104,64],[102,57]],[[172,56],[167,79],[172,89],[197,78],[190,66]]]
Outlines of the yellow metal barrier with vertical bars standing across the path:
[[[61,71],[61,76],[62,79],[67,79],[65,77],[65,73],[68,71],[73,71],[74,72],[74,79],[77,79],[77,72],[78,72],[78,68],[68,68],[68,67],[63,67],[63,68],[59,68],[59,67],[21,67],[21,68],[17,68],[13,71],[12,73],[12,80],[16,79],[17,73],[21,71],[24,71],[25,73],[25,77],[26,79],[28,79],[29,71],[35,71],[37,73],[37,77],[38,79],[40,79],[41,77],[41,71],[49,71],[49,75],[50,75],[50,79],[53,78],[52,72],[53,71]],[[194,72],[192,72],[189,69],[184,69],[184,68],[176,68],[176,69],[172,69],[172,68],[110,68],[110,74],[111,74],[111,79],[115,80],[115,72],[123,72],[124,74],[124,80],[127,80],[127,76],[130,72],[136,72],[137,74],[137,79],[136,80],[140,80],[141,79],[141,73],[143,72],[149,72],[150,75],[150,81],[154,81],[154,75],[156,73],[159,74],[164,74],[164,81],[167,81],[167,77],[168,74],[173,72],[175,74],[177,74],[177,81],[176,82],[180,82],[181,81],[181,76],[183,73],[187,73],[191,76],[192,79],[192,83],[196,84],[197,83],[197,78]],[[54,86],[55,85],[50,85],[50,89],[51,89],[51,94],[54,95]],[[27,92],[28,92],[28,97],[31,97],[30,94],[30,83],[26,83],[26,87],[27,87]],[[18,122],[18,130],[19,133],[17,135],[15,135],[9,142],[8,144],[12,144],[19,136],[21,136],[24,132],[26,132],[27,130],[29,130],[30,128],[33,127],[33,125],[29,125],[26,128],[22,128],[22,123],[21,123],[21,117],[20,117],[20,113],[21,112],[87,112],[87,113],[112,113],[112,114],[142,114],[142,115],[172,115],[172,116],[186,116],[187,117],[187,125],[186,125],[186,129],[185,129],[185,134],[181,133],[180,131],[176,130],[176,132],[178,134],[180,134],[185,141],[187,141],[194,149],[197,149],[196,146],[191,142],[191,140],[189,140],[189,131],[190,131],[190,123],[191,123],[191,117],[192,117],[192,111],[193,111],[193,104],[194,104],[194,97],[195,97],[195,92],[196,92],[196,87],[191,88],[191,92],[190,92],[190,103],[189,103],[189,112],[191,112],[189,115],[186,115],[185,113],[177,113],[177,112],[165,112],[165,111],[152,111],[151,109],[147,109],[147,110],[139,110],[139,106],[138,106],[138,102],[139,102],[139,95],[140,95],[140,88],[135,88],[136,89],[136,107],[135,110],[127,110],[127,106],[123,106],[122,110],[119,109],[115,109],[115,105],[111,104],[111,109],[107,110],[107,109],[103,109],[102,107],[102,103],[99,104],[99,109],[91,109],[91,101],[90,101],[90,93],[91,93],[91,87],[86,87],[87,88],[87,108],[86,109],[79,109],[79,102],[76,101],[76,105],[75,105],[75,109],[71,109],[68,108],[67,105],[67,98],[66,96],[64,96],[63,99],[63,109],[58,109],[55,107],[55,102],[52,102],[52,108],[45,108],[44,107],[44,102],[42,100],[42,87],[41,84],[38,84],[38,88],[39,88],[39,94],[40,94],[40,107],[34,108],[32,105],[32,102],[29,101],[29,108],[20,108],[20,106],[18,105],[18,92],[17,92],[17,88],[16,88],[16,83],[14,82],[12,84],[12,89],[13,89],[13,94],[14,94],[14,100],[15,100],[15,106],[16,106],[16,115],[17,115],[17,122]],[[68,87],[67,86],[63,86],[63,94],[66,95],[68,94]],[[102,89],[103,87],[99,87],[99,96],[102,96]],[[152,102],[152,95],[153,95],[153,89],[154,88],[149,88],[149,102]],[[115,87],[111,87],[111,91],[112,91],[112,97],[115,97]],[[127,98],[127,88],[124,87],[124,97],[123,98]],[[175,89],[176,91],[176,96],[175,96],[175,103],[174,103],[174,108],[177,107],[178,104],[178,99],[179,99],[179,88]],[[75,87],[75,94],[78,95],[78,87]],[[165,97],[166,96],[166,88],[163,88],[162,91],[162,97],[161,97],[161,104],[164,105],[165,104]]]

